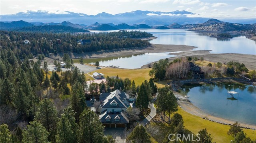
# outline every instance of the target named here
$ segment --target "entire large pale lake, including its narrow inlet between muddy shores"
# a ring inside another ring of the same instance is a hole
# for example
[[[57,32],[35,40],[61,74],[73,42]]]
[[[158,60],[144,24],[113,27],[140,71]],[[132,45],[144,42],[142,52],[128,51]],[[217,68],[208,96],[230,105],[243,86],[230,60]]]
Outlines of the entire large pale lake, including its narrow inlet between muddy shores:
[[[128,30],[130,31],[130,30]],[[196,46],[194,50],[212,50],[211,53],[241,53],[256,55],[256,42],[247,39],[245,36],[232,35],[233,39],[218,40],[209,37],[211,33],[188,31],[186,29],[140,29],[152,33],[157,39],[153,39],[153,44],[174,44]],[[111,32],[111,31],[92,31],[92,32]],[[166,53],[145,53],[131,56],[114,58],[88,59],[85,62],[95,64],[99,61],[102,66],[116,66],[124,69],[136,69],[148,62],[160,59],[175,57]],[[177,52],[176,52],[177,53]]]

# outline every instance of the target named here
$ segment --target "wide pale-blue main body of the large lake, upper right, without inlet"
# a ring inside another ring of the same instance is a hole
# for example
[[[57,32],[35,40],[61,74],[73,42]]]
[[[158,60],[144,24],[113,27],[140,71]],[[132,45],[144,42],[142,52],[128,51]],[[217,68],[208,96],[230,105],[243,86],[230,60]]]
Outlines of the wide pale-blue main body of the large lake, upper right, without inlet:
[[[234,37],[228,41],[221,41],[216,38],[202,35],[194,31],[184,29],[153,30],[147,32],[158,37],[150,43],[154,44],[174,44],[196,46],[195,50],[212,50],[211,53],[242,53],[256,55],[256,42],[246,39],[245,36]]]

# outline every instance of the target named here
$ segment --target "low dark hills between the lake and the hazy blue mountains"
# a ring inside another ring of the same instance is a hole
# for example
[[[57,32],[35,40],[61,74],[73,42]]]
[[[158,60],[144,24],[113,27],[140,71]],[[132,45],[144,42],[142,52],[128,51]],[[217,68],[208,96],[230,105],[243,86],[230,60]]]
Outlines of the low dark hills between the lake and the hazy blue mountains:
[[[56,32],[88,32],[89,30],[119,30],[119,29],[190,29],[194,31],[247,31],[250,33],[256,32],[256,24],[233,24],[229,22],[223,22],[217,19],[210,19],[202,24],[184,24],[180,25],[172,23],[170,25],[161,25],[151,27],[146,24],[134,24],[128,25],[125,23],[114,25],[112,23],[100,24],[98,22],[91,25],[79,25],[71,22],[61,23],[42,23],[42,22],[24,22],[22,20],[16,22],[1,22],[1,29],[17,30],[17,31],[54,31]]]

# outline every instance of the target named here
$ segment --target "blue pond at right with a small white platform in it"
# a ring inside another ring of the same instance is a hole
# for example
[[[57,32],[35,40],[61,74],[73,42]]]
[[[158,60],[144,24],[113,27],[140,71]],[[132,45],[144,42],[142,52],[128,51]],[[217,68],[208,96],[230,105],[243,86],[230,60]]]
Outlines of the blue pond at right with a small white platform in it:
[[[234,94],[234,98],[238,100],[227,99],[231,97],[227,97],[228,90],[233,91],[233,89],[238,92]],[[180,93],[190,96],[190,102],[207,114],[256,125],[255,86],[223,82],[203,86],[184,85]]]

